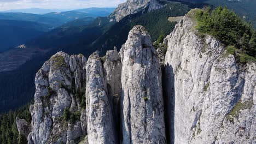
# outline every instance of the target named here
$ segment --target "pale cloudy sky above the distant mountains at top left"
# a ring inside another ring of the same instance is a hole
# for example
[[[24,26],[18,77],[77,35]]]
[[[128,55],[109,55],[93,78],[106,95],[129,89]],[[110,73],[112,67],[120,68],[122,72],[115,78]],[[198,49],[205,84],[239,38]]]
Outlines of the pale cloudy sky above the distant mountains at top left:
[[[117,7],[126,0],[0,0],[0,11],[10,9],[80,9]]]

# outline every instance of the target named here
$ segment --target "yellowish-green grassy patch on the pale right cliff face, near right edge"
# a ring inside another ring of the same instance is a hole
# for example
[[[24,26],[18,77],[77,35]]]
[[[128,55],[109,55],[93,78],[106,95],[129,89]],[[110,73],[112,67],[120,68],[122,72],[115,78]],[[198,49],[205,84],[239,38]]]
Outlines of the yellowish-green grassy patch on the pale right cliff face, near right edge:
[[[238,101],[238,103],[233,107],[233,109],[229,112],[229,114],[226,117],[231,122],[234,122],[234,118],[237,118],[239,116],[240,110],[251,109],[253,105],[253,100],[245,101],[245,103]]]

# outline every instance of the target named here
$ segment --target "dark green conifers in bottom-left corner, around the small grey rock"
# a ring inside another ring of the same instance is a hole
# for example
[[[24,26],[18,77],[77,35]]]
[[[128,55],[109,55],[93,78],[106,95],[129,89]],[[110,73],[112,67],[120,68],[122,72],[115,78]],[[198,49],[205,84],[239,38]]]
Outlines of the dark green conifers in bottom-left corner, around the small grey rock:
[[[16,117],[31,122],[30,104],[22,106],[15,111],[9,111],[0,116],[0,143],[23,144],[27,143],[24,135],[19,135],[16,127]]]

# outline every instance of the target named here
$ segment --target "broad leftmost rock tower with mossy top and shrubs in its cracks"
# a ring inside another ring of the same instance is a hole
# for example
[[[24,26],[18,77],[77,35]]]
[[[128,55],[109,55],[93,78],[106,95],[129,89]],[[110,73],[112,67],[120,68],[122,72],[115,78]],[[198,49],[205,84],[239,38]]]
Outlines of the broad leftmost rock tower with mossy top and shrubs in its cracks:
[[[30,107],[33,143],[75,143],[86,131],[79,113],[85,105],[85,64],[83,55],[58,52],[38,71]]]

